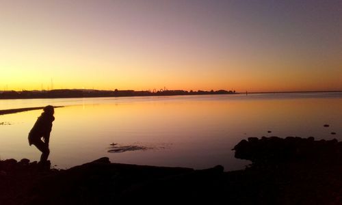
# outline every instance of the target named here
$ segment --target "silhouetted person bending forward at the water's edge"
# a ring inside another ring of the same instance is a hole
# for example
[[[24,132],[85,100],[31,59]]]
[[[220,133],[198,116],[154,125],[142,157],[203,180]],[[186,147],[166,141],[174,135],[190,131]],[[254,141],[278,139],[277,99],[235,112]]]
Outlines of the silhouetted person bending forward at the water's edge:
[[[53,113],[55,113],[53,106],[48,105],[47,107],[44,107],[44,112],[38,117],[34,127],[31,128],[31,131],[29,132],[29,146],[33,144],[42,152],[42,155],[40,156],[41,164],[47,163],[47,158],[50,154],[50,132],[52,122],[55,120]],[[42,139],[44,139],[44,141],[42,141]]]

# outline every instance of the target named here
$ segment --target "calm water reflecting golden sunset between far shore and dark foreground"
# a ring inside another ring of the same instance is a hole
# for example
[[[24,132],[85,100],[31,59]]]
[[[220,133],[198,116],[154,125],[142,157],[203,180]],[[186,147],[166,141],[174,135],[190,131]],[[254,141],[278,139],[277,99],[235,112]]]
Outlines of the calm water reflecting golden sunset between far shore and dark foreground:
[[[233,170],[248,164],[231,151],[247,137],[342,140],[342,93],[0,100],[0,109],[45,105],[66,106],[55,109],[50,140],[49,159],[59,168],[108,156],[113,163]],[[1,159],[39,159],[27,134],[41,112],[0,115]],[[148,149],[109,153],[111,143]]]

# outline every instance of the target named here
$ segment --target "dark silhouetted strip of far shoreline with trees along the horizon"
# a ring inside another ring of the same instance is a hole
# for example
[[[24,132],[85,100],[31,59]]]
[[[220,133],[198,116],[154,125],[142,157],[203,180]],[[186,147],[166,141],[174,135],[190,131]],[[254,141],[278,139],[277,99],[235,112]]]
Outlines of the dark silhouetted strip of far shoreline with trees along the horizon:
[[[186,90],[159,90],[134,91],[134,90],[43,90],[43,91],[3,91],[0,92],[0,99],[21,99],[21,98],[94,98],[94,97],[122,97],[122,96],[183,96],[183,95],[207,95],[207,94],[235,94],[234,91],[186,91]]]

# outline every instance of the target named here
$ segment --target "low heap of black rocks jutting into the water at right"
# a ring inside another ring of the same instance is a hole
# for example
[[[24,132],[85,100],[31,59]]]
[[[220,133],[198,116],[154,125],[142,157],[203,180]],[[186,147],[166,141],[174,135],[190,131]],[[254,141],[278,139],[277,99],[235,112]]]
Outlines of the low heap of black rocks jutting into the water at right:
[[[315,161],[339,163],[342,159],[342,141],[337,139],[315,141],[314,137],[249,137],[235,148],[235,158],[253,163],[280,163],[284,161]]]

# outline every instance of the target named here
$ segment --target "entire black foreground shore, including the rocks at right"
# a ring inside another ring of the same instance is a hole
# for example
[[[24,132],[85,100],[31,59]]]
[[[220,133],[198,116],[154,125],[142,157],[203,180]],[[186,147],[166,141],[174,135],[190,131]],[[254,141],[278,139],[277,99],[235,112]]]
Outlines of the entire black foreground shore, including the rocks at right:
[[[0,204],[342,204],[342,142],[250,137],[235,146],[249,167],[223,172],[110,163],[65,170],[0,161]]]

